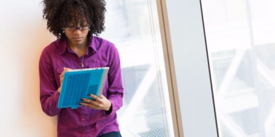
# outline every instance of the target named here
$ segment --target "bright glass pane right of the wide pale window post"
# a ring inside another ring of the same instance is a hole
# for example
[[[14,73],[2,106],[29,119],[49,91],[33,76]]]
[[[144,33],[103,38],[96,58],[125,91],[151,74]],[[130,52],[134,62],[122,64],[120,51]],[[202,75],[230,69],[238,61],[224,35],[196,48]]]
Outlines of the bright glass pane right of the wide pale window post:
[[[219,136],[275,136],[275,1],[202,1]]]

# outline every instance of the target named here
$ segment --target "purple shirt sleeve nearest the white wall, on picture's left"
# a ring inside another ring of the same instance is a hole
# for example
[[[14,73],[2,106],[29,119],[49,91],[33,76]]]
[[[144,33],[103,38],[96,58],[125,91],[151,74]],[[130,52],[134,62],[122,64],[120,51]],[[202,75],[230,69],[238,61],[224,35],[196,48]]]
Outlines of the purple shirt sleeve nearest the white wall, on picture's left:
[[[58,86],[54,78],[54,71],[51,60],[45,50],[41,53],[39,60],[39,80],[40,80],[40,102],[42,110],[48,116],[57,115],[58,109]]]

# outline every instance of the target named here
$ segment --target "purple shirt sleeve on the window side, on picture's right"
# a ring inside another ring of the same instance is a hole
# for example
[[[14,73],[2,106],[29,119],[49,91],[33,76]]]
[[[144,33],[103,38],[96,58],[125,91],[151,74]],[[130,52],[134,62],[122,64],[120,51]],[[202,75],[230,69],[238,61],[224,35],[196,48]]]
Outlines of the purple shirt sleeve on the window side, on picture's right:
[[[112,102],[112,106],[109,111],[106,111],[106,114],[112,115],[122,107],[124,91],[121,78],[120,57],[115,46],[111,48],[111,54],[109,56],[108,84],[107,98]]]

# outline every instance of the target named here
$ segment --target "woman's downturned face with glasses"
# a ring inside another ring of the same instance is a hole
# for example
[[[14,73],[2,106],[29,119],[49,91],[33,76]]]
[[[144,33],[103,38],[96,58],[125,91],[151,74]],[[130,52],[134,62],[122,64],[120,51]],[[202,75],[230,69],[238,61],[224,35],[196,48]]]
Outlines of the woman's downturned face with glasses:
[[[78,23],[77,26],[74,26],[72,22],[69,22],[67,26],[64,27],[65,35],[69,44],[79,46],[85,44],[87,41],[90,26],[86,21],[82,24],[84,25]]]

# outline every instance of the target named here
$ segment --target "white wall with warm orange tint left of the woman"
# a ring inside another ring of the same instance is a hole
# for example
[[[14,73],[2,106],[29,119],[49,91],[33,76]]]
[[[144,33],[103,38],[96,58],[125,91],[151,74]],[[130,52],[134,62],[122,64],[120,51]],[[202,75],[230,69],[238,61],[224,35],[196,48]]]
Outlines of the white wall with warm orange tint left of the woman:
[[[38,60],[55,38],[38,0],[0,1],[0,136],[56,136],[40,107]]]

